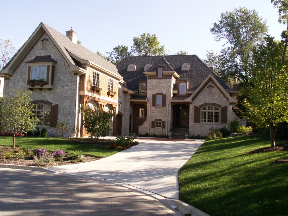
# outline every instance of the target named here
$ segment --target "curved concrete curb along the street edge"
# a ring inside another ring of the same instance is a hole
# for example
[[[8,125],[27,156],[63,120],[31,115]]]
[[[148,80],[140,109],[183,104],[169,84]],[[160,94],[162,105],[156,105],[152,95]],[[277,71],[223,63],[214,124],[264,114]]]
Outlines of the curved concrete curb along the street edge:
[[[0,168],[9,168],[9,169],[24,169],[24,170],[31,170],[31,171],[38,171],[38,172],[47,172],[47,173],[61,173],[61,172],[58,172],[58,171],[51,171],[49,170],[49,167],[46,168],[46,167],[32,167],[32,166],[25,166],[25,165],[15,165],[15,164],[0,164]],[[62,173],[62,174],[71,174],[71,173]],[[82,176],[82,175],[79,175],[79,174],[72,174],[72,175],[75,175],[75,176]],[[94,177],[89,177],[89,176],[82,176],[84,178],[94,178]],[[100,179],[100,178],[97,178],[98,180],[104,180],[104,179]],[[143,193],[143,194],[146,194],[148,196],[152,196],[154,197],[155,199],[158,199],[160,203],[163,204],[163,206],[165,206],[166,208],[174,211],[175,213],[179,213],[181,215],[184,215],[184,214],[191,214],[191,216],[210,216],[208,214],[206,214],[205,212],[202,212],[201,210],[199,210],[198,208],[195,208],[194,206],[191,206],[189,205],[188,203],[185,203],[179,199],[169,199],[169,198],[163,198],[163,199],[159,199],[155,196],[153,196],[152,194],[148,194],[146,193],[145,191],[141,190],[141,188],[136,188],[136,187],[129,187],[127,185],[124,185],[124,184],[117,184],[116,182],[113,183],[113,181],[110,181],[110,180],[104,180],[105,182],[109,182],[109,183],[112,183],[112,184],[115,184],[115,185],[122,185],[124,187],[127,187],[127,188],[131,188],[131,189],[134,189],[135,191],[137,192],[140,192],[140,193]],[[138,189],[138,190],[137,190]],[[140,190],[139,190],[140,189]],[[156,195],[156,194],[155,194]],[[158,195],[158,194],[157,194]],[[159,196],[159,195],[158,195]],[[174,206],[174,208],[173,208]],[[175,207],[176,206],[176,207]]]

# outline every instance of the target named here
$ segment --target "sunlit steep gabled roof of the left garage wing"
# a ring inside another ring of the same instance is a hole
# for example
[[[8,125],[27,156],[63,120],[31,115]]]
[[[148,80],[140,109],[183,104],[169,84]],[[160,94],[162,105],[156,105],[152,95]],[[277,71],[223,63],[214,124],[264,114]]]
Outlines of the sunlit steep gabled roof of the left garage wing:
[[[102,57],[98,56],[97,54],[93,53],[89,49],[86,49],[85,47],[81,46],[80,44],[72,43],[72,41],[65,35],[61,34],[60,32],[56,31],[55,29],[52,29],[50,26],[44,24],[41,22],[37,29],[33,32],[33,34],[30,36],[30,38],[27,40],[27,42],[18,50],[18,52],[15,54],[13,59],[11,59],[5,68],[5,73],[8,74],[8,68],[10,68],[10,74],[11,70],[15,70],[17,68],[17,65],[19,62],[23,59],[24,55],[29,52],[29,49],[33,47],[33,44],[36,40],[44,33],[46,32],[52,42],[56,45],[58,50],[63,54],[64,58],[66,59],[67,63],[70,66],[74,66],[76,68],[79,68],[79,65],[75,62],[75,60],[72,59],[72,56],[70,54],[74,54],[74,56],[77,56],[79,59],[83,59],[85,61],[90,61],[94,63],[95,65],[99,66],[100,68],[104,68],[109,72],[114,73],[116,76],[120,77],[120,74],[118,73],[118,70],[116,66],[106,59],[103,59]],[[22,54],[21,54],[22,53]],[[23,54],[25,53],[25,54]],[[18,58],[19,57],[19,58]],[[2,73],[3,73],[2,71]]]

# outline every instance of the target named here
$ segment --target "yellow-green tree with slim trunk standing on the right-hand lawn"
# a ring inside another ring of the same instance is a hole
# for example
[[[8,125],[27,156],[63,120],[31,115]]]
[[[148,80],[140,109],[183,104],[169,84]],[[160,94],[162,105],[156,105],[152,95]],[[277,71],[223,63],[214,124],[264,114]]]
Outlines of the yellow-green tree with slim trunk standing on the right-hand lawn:
[[[251,82],[248,100],[244,100],[247,118],[259,127],[269,126],[271,147],[280,122],[288,121],[288,73],[282,64],[282,43],[267,36],[253,49]]]

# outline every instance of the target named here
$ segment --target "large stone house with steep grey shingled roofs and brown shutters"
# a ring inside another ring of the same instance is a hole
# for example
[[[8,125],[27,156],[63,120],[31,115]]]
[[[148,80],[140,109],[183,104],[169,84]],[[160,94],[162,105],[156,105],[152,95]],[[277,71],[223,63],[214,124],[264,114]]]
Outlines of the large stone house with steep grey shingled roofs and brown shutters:
[[[203,136],[236,116],[237,80],[231,89],[196,55],[135,56],[113,65],[78,44],[72,29],[65,36],[42,22],[0,77],[4,96],[32,90],[38,127],[49,136],[57,135],[57,121],[88,136],[81,105],[114,111],[110,135],[186,130]]]

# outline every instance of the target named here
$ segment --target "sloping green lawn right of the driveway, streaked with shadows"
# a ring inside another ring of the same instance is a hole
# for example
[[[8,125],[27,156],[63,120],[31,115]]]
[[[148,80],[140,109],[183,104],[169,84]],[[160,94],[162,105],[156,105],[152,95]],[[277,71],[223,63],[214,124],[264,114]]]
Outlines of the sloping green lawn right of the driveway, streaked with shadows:
[[[278,143],[278,145],[284,143]],[[288,151],[253,136],[206,141],[179,171],[179,198],[211,216],[288,215]]]

